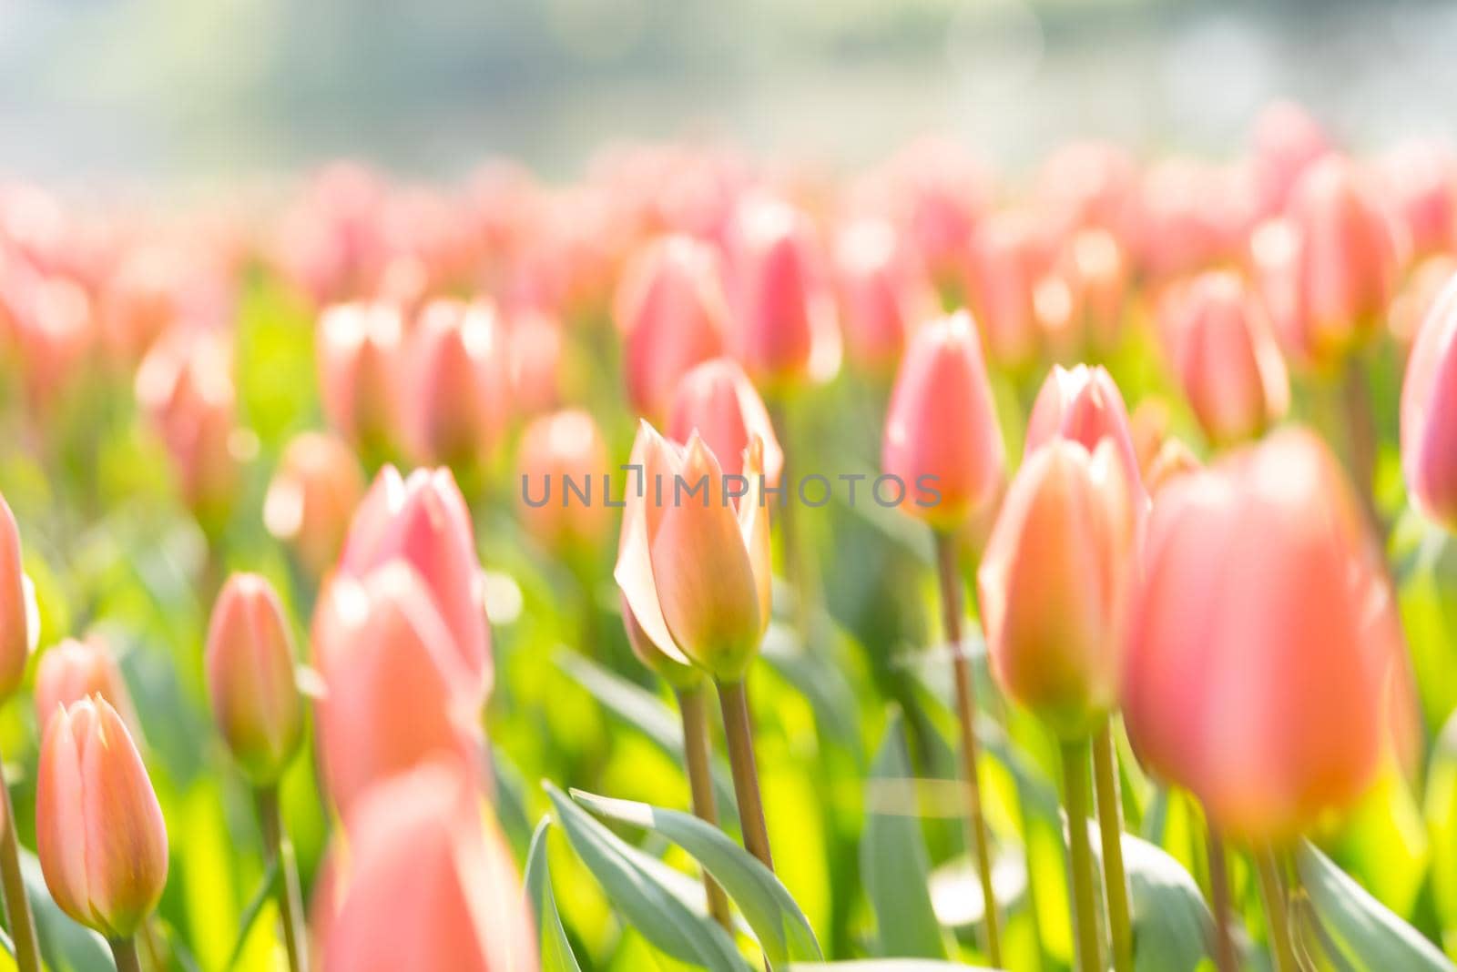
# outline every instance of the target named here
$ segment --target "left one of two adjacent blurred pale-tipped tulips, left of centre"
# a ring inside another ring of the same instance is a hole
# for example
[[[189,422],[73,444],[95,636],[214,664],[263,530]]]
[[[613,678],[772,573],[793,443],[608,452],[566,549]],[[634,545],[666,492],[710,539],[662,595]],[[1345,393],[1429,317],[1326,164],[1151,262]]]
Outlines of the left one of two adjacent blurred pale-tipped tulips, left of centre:
[[[338,304],[319,317],[319,397],[323,415],[356,445],[395,439],[402,405],[405,324],[388,304]]]

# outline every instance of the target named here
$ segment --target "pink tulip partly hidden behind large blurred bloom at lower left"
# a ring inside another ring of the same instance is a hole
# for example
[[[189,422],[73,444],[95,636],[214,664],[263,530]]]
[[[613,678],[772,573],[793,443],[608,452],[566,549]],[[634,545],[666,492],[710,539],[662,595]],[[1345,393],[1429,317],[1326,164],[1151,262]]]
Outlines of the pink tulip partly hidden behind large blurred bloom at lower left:
[[[460,687],[484,703],[491,687],[491,630],[471,511],[450,470],[417,469],[402,479],[386,466],[374,477],[354,512],[338,572],[361,578],[390,560],[404,560],[424,581],[469,672]]]

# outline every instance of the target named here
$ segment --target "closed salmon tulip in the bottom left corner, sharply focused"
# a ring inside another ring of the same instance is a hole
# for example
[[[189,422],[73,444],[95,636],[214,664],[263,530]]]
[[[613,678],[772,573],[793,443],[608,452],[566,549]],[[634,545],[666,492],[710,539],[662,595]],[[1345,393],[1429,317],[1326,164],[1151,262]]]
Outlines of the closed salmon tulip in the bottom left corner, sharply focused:
[[[117,710],[85,698],[51,714],[35,783],[36,856],[55,904],[130,939],[168,883],[168,831]]]

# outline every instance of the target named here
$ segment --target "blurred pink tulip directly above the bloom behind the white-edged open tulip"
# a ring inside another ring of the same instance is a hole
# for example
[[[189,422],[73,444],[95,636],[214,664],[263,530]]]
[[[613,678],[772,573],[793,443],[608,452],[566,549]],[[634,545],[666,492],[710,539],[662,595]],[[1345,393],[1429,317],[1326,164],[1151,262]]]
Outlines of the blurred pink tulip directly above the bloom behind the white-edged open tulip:
[[[613,316],[625,342],[628,400],[659,419],[679,378],[723,354],[728,304],[717,255],[686,236],[650,243],[624,272]]]

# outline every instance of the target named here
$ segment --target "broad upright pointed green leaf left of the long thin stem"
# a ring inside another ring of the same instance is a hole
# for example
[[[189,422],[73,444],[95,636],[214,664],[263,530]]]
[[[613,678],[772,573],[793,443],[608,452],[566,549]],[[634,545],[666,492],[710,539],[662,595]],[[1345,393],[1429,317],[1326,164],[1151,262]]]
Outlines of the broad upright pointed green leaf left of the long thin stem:
[[[880,952],[944,959],[946,939],[931,905],[930,864],[899,712],[886,729],[868,786],[860,866]]]

